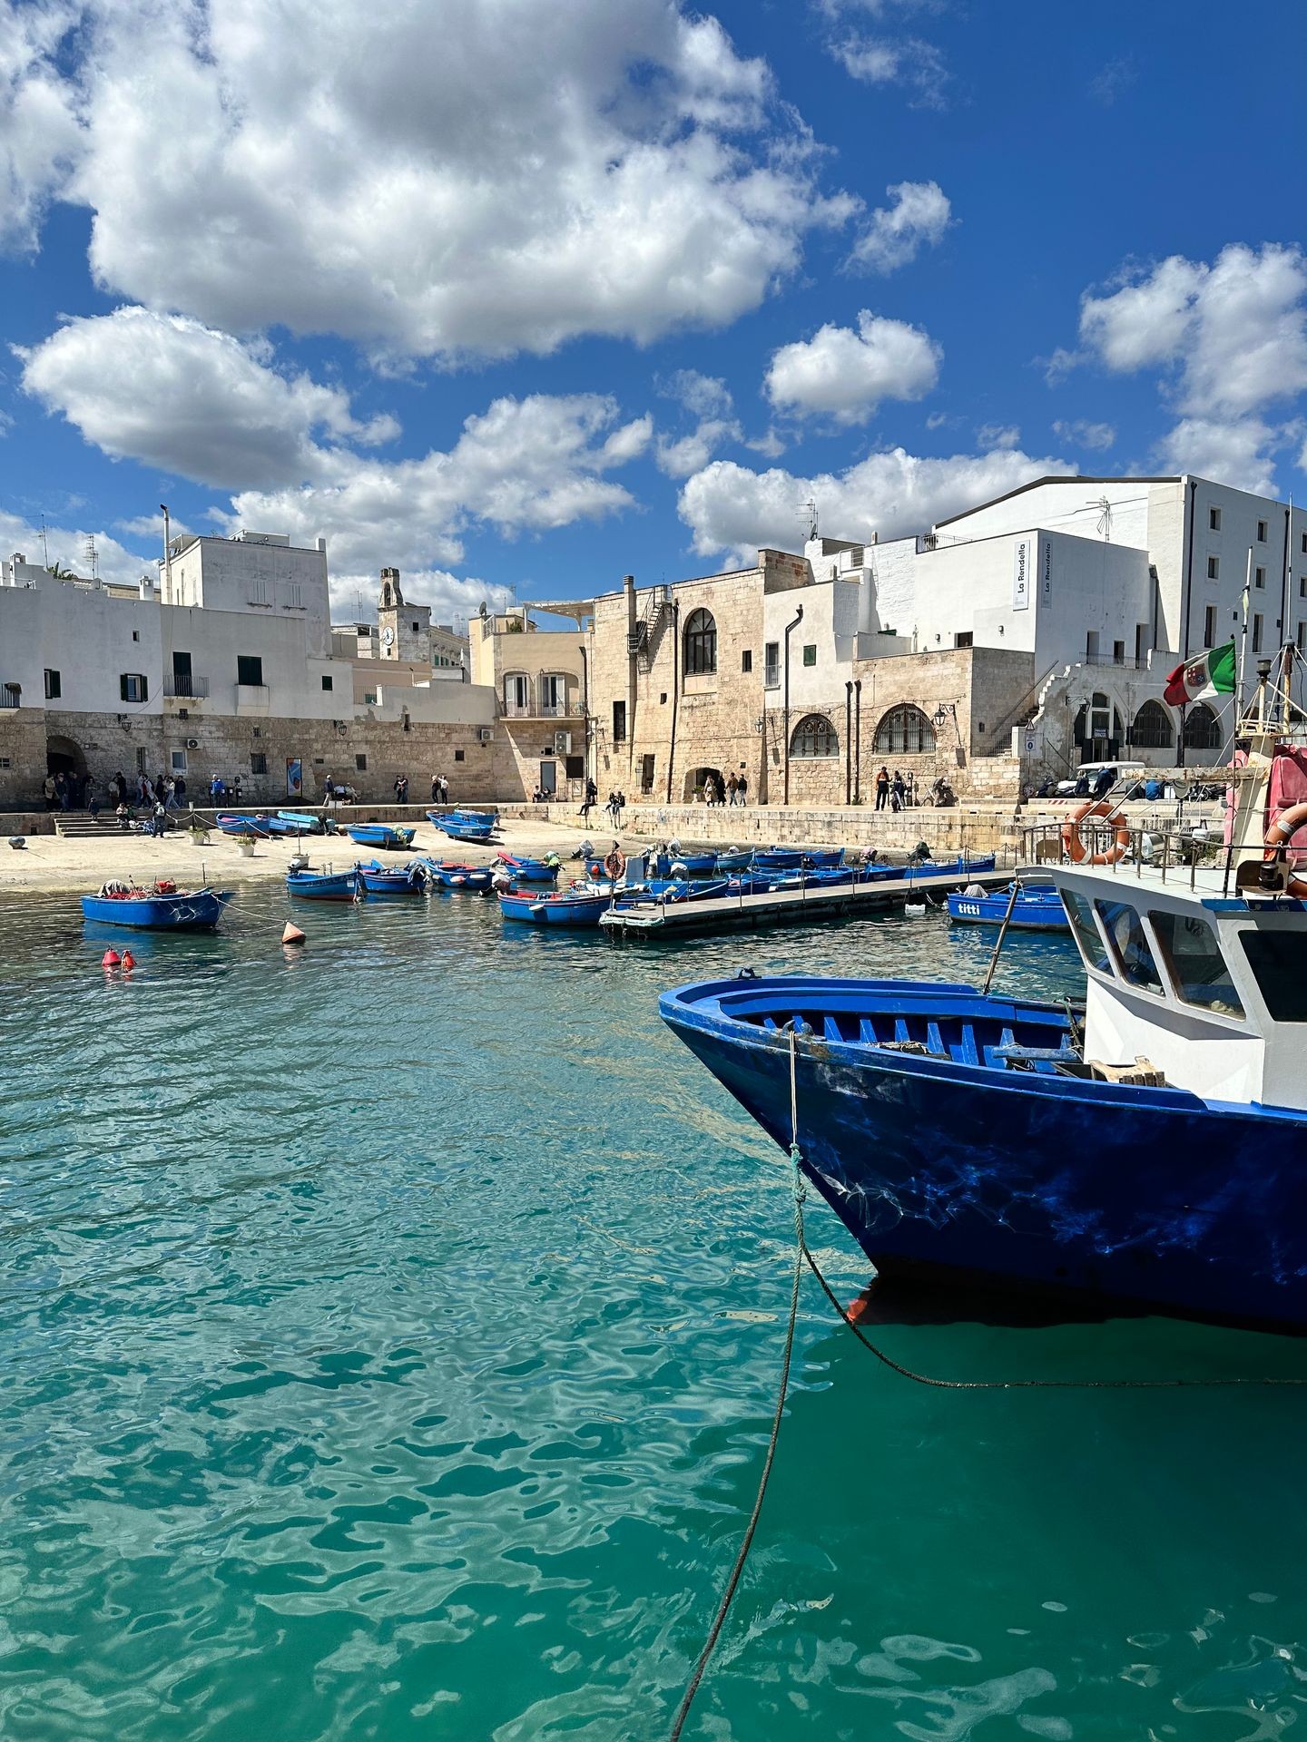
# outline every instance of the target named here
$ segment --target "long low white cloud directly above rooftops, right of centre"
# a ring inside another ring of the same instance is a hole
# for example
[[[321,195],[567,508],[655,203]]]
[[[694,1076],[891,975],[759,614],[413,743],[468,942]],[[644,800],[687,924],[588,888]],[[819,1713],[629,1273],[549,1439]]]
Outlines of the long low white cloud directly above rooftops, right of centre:
[[[772,467],[753,472],[718,460],[690,477],[678,509],[702,556],[748,554],[758,545],[791,549],[795,509],[816,498],[835,538],[894,538],[999,496],[1051,472],[1073,472],[1063,460],[1032,460],[1011,448],[929,460],[892,448],[847,472],[802,477]],[[748,557],[751,561],[751,556]]]

